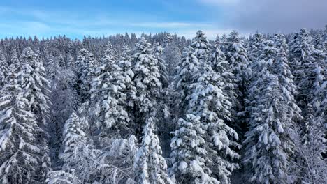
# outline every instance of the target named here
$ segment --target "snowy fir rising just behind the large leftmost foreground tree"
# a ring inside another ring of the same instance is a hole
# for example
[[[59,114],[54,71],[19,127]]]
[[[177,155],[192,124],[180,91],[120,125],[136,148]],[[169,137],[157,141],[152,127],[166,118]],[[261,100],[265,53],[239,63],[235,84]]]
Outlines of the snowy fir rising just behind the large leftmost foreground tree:
[[[50,113],[50,82],[45,74],[43,63],[38,61],[30,47],[20,55],[22,70],[19,73],[20,84],[25,98],[29,100],[31,112],[39,125],[46,125]]]

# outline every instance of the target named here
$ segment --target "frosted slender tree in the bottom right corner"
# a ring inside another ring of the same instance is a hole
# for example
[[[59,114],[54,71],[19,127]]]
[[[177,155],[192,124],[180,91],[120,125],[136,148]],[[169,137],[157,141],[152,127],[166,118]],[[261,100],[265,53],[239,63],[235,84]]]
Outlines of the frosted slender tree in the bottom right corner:
[[[324,183],[327,181],[327,160],[322,153],[327,150],[325,138],[326,118],[314,117],[311,105],[307,107],[308,116],[305,118],[305,143],[300,137],[294,137],[298,146],[298,160],[293,164],[295,180],[301,183]]]

